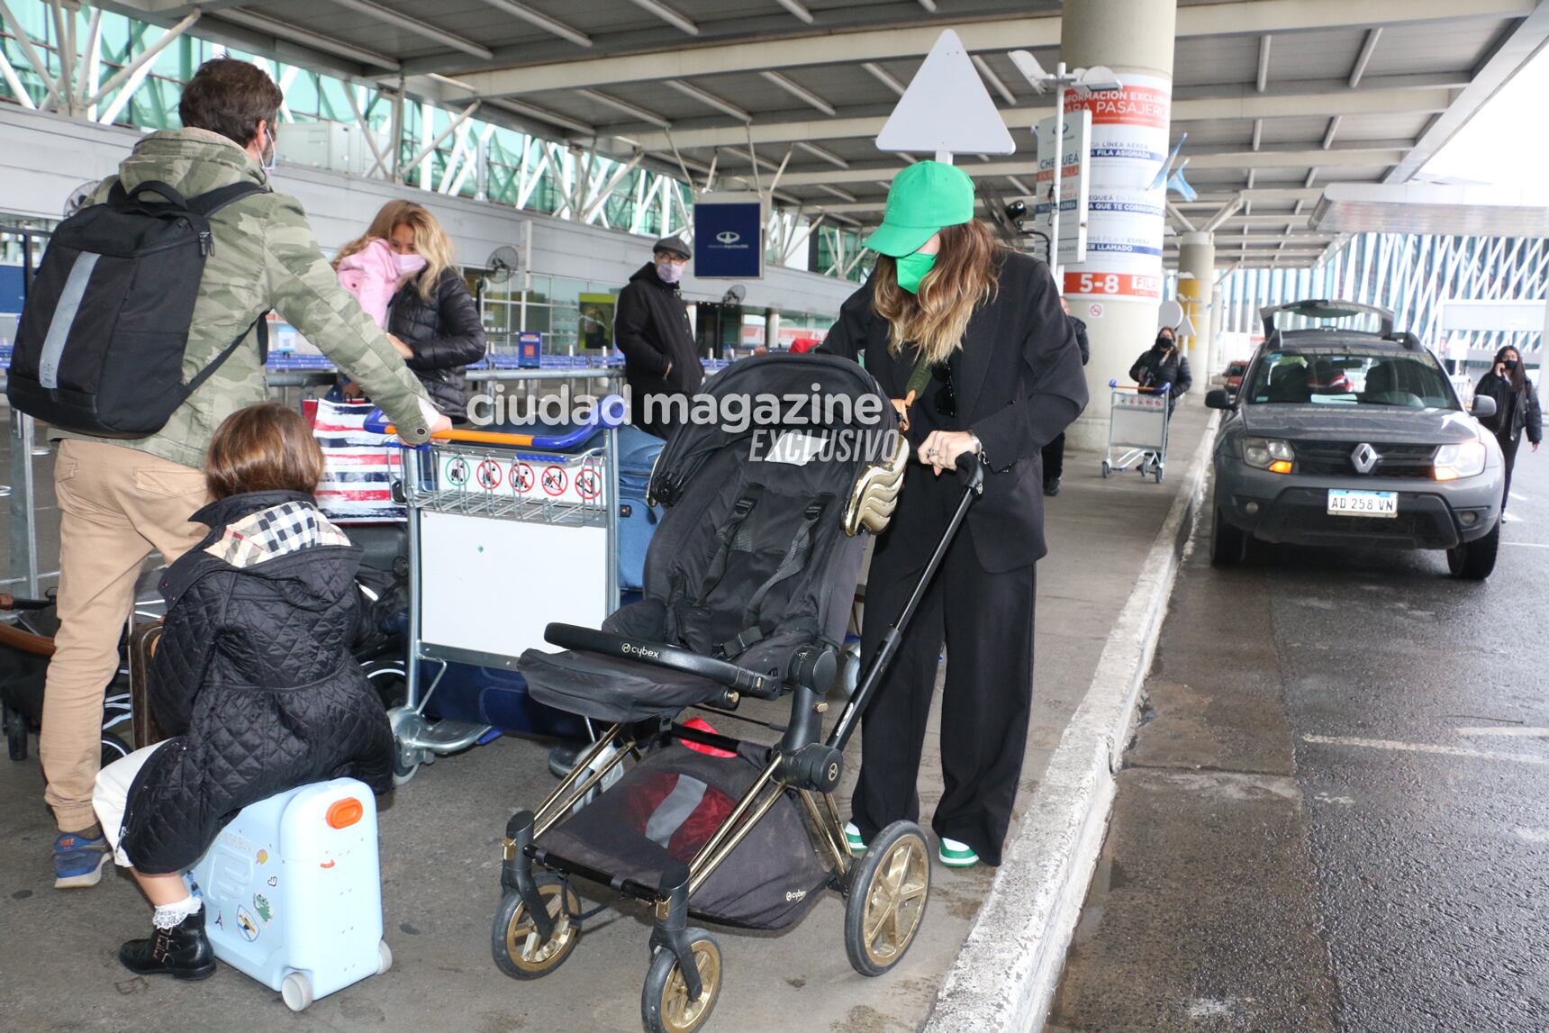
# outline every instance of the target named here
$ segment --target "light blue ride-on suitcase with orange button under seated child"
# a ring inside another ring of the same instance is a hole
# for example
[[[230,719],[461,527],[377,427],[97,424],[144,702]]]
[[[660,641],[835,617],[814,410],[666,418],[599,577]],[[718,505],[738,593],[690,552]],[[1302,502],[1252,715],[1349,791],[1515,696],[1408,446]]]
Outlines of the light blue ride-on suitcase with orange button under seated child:
[[[356,779],[245,807],[184,875],[215,957],[293,1011],[386,973],[376,798]]]

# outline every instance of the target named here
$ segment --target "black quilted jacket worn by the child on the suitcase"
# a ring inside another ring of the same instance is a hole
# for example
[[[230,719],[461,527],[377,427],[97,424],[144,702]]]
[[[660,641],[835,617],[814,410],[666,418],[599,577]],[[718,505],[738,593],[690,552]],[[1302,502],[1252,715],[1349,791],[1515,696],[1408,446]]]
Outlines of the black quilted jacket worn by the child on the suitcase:
[[[197,861],[239,810],[353,776],[392,788],[392,731],[350,657],[359,550],[302,548],[251,567],[206,553],[228,523],[311,496],[265,491],[191,519],[211,534],[167,568],[150,700],[172,736],[129,791],[122,849],[143,872]]]

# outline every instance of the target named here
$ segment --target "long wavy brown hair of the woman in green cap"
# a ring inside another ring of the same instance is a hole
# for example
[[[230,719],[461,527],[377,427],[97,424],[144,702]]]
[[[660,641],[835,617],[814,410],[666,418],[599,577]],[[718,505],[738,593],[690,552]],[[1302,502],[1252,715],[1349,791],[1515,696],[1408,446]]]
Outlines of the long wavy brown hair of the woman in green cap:
[[[917,294],[898,287],[897,263],[877,259],[872,273],[872,310],[891,328],[888,348],[897,355],[912,342],[931,362],[943,362],[962,347],[968,319],[999,288],[1004,248],[979,220],[942,229],[936,265],[920,280]]]

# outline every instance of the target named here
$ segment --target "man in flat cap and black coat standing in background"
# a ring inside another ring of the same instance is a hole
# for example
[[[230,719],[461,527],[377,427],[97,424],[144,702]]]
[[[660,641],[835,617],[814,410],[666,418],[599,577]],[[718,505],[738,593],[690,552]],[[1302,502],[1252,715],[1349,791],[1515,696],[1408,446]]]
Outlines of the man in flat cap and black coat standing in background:
[[[691,257],[682,237],[665,237],[618,293],[613,339],[624,353],[635,426],[658,438],[688,418],[688,400],[705,381],[678,288]]]

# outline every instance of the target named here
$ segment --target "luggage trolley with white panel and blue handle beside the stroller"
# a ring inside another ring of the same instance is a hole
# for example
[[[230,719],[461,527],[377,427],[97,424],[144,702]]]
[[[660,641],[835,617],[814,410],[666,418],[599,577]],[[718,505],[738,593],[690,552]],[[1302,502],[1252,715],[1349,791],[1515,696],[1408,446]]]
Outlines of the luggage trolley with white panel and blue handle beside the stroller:
[[[606,398],[596,412],[623,414],[623,401]],[[393,432],[375,414],[367,429]],[[400,785],[437,756],[503,734],[426,714],[451,664],[514,672],[550,621],[595,624],[618,609],[618,427],[598,417],[558,435],[446,431],[401,449],[401,471],[407,694],[387,711]]]

